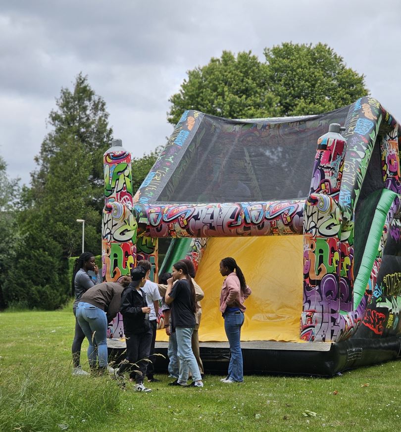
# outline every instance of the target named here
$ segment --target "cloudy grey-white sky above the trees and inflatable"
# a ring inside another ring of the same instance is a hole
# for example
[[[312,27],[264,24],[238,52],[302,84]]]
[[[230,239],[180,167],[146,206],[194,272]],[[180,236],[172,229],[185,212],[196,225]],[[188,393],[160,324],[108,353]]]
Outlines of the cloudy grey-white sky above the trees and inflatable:
[[[142,156],[165,143],[168,98],[222,50],[327,43],[401,119],[401,1],[0,1],[0,154],[29,182],[61,87],[88,75],[114,138]]]

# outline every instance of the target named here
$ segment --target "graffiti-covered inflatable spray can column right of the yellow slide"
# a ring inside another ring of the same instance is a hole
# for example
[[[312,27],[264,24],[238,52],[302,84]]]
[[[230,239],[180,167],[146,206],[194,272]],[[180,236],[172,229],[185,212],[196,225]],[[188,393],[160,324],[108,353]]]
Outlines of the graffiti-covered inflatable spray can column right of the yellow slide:
[[[338,205],[346,141],[333,123],[317,141],[309,196],[303,211],[303,310],[301,339],[335,341],[345,296],[342,268],[342,213]],[[346,253],[348,253],[346,251]],[[341,299],[341,300],[340,300]],[[348,298],[347,298],[348,301]]]

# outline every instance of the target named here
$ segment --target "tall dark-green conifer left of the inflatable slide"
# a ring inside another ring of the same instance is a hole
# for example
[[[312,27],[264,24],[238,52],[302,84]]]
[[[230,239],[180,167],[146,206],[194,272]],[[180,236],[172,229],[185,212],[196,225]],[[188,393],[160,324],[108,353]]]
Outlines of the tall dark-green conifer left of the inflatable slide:
[[[8,303],[47,309],[58,307],[70,293],[67,258],[81,252],[76,219],[85,219],[85,249],[100,253],[102,155],[112,134],[105,102],[86,76],[76,77],[72,91],[61,89],[56,106],[31,188],[22,193],[18,222],[23,236],[3,289]]]

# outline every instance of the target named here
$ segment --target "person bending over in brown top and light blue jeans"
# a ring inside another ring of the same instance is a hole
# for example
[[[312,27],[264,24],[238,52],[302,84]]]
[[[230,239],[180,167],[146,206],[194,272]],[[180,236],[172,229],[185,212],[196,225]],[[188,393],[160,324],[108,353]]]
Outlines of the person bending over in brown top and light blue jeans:
[[[121,293],[131,282],[103,282],[84,292],[77,307],[77,320],[88,339],[88,361],[91,371],[104,373],[107,368],[107,323],[121,307]]]

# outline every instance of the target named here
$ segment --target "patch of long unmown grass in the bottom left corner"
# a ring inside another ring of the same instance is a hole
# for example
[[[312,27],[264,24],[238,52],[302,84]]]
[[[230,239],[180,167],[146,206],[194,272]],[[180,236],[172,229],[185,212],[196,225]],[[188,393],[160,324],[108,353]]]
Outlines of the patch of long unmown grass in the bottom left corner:
[[[46,361],[2,369],[0,383],[1,431],[87,430],[117,413],[121,393],[110,379],[77,379]]]

